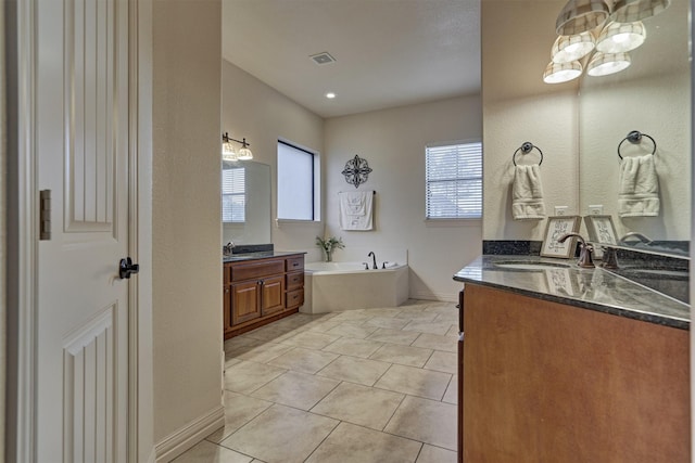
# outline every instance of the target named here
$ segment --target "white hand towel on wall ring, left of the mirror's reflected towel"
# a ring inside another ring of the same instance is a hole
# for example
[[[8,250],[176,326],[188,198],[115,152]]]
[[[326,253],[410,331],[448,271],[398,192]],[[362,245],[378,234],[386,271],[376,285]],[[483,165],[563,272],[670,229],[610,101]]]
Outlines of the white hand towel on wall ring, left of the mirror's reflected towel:
[[[541,166],[516,166],[511,187],[511,215],[515,220],[544,219]]]

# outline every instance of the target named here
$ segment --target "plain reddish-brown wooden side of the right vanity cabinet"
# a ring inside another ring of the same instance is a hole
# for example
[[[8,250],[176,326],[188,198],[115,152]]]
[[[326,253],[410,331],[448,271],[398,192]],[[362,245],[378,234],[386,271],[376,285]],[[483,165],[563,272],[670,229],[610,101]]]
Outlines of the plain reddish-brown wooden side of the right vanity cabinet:
[[[691,461],[688,331],[470,283],[465,294],[464,462]]]

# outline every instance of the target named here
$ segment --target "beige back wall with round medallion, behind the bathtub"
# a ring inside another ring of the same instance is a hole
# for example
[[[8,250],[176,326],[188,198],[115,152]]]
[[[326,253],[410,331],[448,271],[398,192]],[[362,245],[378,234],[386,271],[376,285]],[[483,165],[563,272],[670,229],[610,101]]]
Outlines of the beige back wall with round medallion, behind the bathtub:
[[[456,300],[452,275],[480,255],[481,221],[425,220],[425,145],[480,138],[479,97],[328,119],[326,233],[348,247],[407,248],[410,297]],[[342,231],[338,221],[338,193],[355,190],[341,171],[355,154],[374,169],[359,187],[377,192],[374,231]]]

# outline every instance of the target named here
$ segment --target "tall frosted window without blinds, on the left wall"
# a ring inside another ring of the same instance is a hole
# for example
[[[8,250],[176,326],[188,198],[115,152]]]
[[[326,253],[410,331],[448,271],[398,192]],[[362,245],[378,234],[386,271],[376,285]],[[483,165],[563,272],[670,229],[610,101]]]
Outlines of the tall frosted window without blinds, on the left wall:
[[[318,220],[314,196],[317,156],[278,141],[278,219]]]

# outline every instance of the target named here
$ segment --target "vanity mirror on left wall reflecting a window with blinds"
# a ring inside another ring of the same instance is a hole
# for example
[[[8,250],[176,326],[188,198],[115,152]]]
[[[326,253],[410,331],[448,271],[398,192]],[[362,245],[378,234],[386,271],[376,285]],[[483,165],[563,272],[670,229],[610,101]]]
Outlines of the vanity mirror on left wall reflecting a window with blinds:
[[[270,166],[223,160],[223,244],[267,244],[270,239]]]

